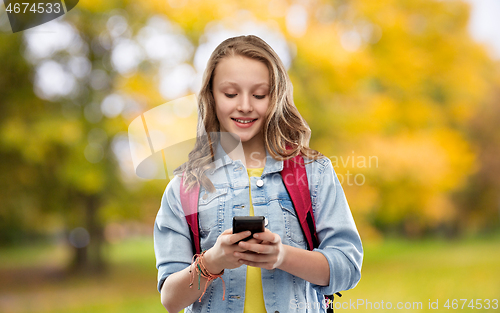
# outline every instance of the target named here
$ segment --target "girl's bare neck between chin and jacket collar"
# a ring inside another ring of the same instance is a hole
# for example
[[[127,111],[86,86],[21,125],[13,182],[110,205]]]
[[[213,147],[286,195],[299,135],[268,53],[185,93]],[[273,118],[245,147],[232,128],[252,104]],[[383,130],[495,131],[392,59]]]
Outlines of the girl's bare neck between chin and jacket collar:
[[[229,133],[221,133],[221,146],[231,159],[241,160],[246,168],[263,168],[266,165],[266,148],[260,136],[241,142]]]

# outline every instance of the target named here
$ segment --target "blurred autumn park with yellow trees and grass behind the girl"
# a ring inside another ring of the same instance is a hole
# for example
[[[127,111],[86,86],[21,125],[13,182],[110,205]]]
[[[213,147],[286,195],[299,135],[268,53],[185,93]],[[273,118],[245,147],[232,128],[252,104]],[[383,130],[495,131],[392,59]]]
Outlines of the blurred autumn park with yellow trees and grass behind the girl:
[[[12,33],[0,5],[0,312],[164,312],[152,227],[167,180],[137,177],[127,128],[196,94],[240,34],[284,61],[363,239],[361,282],[337,301],[499,299],[500,53],[472,37],[471,12],[88,0]]]

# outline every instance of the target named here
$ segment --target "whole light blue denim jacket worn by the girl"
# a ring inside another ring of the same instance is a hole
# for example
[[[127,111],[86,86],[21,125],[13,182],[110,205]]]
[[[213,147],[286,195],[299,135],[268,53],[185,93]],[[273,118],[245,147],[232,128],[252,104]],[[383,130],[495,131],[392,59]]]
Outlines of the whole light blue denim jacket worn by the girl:
[[[211,248],[217,237],[232,227],[233,216],[249,215],[248,188],[251,188],[255,215],[267,218],[266,228],[278,234],[283,244],[307,249],[307,241],[280,175],[283,161],[273,159],[267,151],[266,154],[262,176],[251,177],[249,186],[243,163],[232,160],[218,145],[215,167],[205,172],[216,192],[200,189],[198,219],[202,250]],[[304,160],[306,163],[311,161]],[[306,172],[320,242],[314,251],[328,260],[330,281],[328,286],[319,286],[280,269],[262,269],[264,302],[270,313],[325,312],[323,295],[354,288],[361,278],[361,239],[330,159],[324,157],[306,164]],[[261,180],[259,184],[258,180]],[[193,257],[189,228],[180,203],[180,181],[176,176],[168,184],[154,227],[159,291],[165,279],[188,267]],[[222,281],[217,279],[209,285],[201,302],[196,300],[185,312],[242,313],[246,272],[246,265],[226,269],[222,276],[226,285],[225,300],[222,300]]]

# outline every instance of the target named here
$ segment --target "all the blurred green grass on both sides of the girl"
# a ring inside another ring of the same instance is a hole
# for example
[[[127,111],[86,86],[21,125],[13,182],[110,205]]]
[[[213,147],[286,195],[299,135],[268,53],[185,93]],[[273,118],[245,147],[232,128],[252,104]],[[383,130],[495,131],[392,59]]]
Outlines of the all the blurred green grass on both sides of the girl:
[[[455,311],[443,307],[447,299],[500,300],[498,236],[461,241],[390,239],[366,242],[364,248],[361,281],[336,298],[337,305],[344,304],[339,312],[371,312],[382,301],[393,307],[398,302],[422,303],[422,309],[400,310],[405,312],[442,312]],[[69,259],[63,246],[0,249],[0,312],[166,312],[156,291],[152,238],[110,245],[106,256],[111,264],[106,275],[68,278],[62,272]],[[429,301],[436,300],[439,309],[429,310]],[[358,307],[347,306],[361,301]],[[372,309],[366,308],[367,302]],[[460,309],[462,301],[458,303],[457,311],[478,311],[467,304]]]

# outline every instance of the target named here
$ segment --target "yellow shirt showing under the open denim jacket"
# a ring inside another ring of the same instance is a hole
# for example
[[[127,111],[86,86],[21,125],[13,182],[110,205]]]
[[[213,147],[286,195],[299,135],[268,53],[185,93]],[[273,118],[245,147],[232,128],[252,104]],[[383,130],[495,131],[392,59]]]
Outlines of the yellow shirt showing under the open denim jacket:
[[[262,176],[264,168],[248,168],[248,180],[250,177]],[[250,216],[254,215],[252,204],[252,189],[250,188]],[[264,292],[262,291],[262,276],[260,267],[247,266],[247,280],[245,287],[244,313],[265,313]]]

